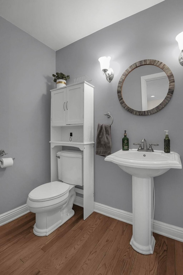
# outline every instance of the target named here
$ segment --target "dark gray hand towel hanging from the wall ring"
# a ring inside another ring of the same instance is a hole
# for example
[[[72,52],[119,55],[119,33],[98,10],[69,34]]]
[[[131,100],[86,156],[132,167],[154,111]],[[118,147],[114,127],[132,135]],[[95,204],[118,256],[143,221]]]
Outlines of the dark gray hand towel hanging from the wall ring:
[[[100,124],[97,127],[96,155],[108,156],[112,154],[111,126],[110,124]]]

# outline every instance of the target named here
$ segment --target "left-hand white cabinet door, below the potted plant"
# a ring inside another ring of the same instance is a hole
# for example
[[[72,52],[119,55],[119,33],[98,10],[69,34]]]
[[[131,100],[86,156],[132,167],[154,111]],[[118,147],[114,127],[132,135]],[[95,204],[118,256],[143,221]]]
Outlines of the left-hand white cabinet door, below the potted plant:
[[[51,125],[65,125],[66,88],[51,94]]]

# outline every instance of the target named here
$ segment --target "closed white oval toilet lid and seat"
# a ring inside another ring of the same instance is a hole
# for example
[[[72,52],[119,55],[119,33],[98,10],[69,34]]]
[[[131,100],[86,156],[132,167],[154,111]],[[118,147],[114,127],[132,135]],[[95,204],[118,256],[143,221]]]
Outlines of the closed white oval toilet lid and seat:
[[[42,184],[29,193],[31,201],[49,201],[59,198],[69,191],[69,184],[53,181]]]

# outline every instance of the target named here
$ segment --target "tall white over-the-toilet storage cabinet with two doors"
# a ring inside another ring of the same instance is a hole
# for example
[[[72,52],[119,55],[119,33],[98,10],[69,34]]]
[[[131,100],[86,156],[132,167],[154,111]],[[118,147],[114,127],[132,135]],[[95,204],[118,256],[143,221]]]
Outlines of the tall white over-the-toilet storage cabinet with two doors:
[[[84,81],[51,90],[50,138],[51,181],[59,181],[56,154],[63,146],[83,151],[83,189],[76,186],[75,191],[83,194],[86,219],[94,211],[94,86]]]

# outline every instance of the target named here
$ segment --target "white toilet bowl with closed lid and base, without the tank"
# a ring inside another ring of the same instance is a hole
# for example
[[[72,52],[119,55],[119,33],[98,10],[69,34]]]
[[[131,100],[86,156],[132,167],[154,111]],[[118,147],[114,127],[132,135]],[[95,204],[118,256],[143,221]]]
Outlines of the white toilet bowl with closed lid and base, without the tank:
[[[33,189],[27,199],[29,211],[36,214],[33,233],[47,236],[74,215],[75,185],[48,182]]]

